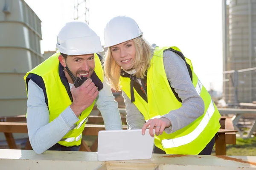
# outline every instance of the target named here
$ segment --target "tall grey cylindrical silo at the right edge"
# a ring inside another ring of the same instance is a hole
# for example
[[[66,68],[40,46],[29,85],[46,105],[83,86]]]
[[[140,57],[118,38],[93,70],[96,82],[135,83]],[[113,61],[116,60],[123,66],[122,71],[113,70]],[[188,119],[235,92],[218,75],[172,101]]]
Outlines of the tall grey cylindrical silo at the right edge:
[[[224,97],[228,103],[256,100],[256,0],[230,0],[228,4]],[[225,41],[224,41],[225,42]]]

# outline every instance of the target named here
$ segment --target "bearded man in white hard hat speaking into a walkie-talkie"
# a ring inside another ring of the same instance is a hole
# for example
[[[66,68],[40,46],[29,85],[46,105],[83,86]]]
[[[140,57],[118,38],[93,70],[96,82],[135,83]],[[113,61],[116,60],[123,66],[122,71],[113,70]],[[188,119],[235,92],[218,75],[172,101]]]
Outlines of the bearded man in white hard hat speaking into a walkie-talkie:
[[[27,126],[35,153],[78,151],[96,103],[106,130],[121,130],[118,104],[104,81],[103,48],[87,23],[73,21],[59,32],[58,51],[24,77]]]

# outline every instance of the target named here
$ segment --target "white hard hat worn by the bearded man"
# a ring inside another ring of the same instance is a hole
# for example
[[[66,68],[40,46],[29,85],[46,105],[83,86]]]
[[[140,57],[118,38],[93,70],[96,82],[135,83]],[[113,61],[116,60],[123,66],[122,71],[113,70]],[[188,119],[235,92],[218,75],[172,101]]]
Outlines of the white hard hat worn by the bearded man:
[[[103,51],[99,36],[87,23],[80,21],[66,23],[61,28],[56,48],[67,55],[84,55]]]

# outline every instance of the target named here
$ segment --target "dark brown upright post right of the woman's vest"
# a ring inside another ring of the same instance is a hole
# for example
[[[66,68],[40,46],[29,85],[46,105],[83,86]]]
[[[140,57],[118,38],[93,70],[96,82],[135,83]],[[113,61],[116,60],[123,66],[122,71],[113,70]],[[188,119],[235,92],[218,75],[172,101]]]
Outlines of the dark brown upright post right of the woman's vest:
[[[218,133],[215,135],[215,154],[226,155],[225,133]]]

